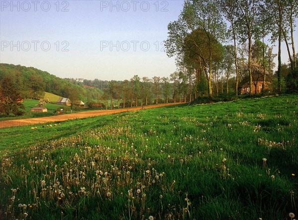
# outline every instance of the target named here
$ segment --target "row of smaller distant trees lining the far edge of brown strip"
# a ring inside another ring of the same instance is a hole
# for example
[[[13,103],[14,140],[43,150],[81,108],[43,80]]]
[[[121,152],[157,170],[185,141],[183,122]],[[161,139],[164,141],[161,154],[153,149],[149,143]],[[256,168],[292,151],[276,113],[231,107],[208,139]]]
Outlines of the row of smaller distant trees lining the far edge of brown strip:
[[[142,79],[135,75],[130,80],[124,81],[108,81],[107,86],[103,88],[102,100],[107,103],[111,103],[111,109],[113,106],[120,108],[122,105],[125,107],[138,107],[143,105],[149,105],[152,103],[158,104],[161,99],[164,103],[168,102],[180,102],[181,94],[186,94],[186,81],[183,78],[183,74],[175,72],[171,74],[171,77],[157,77],[152,79],[149,77],[143,77]],[[175,78],[175,90],[176,94],[172,94],[172,85],[170,80]],[[177,92],[179,91],[179,92]],[[173,100],[170,100],[173,98]],[[113,101],[117,100],[117,105],[113,105]],[[120,105],[120,102],[122,104]]]

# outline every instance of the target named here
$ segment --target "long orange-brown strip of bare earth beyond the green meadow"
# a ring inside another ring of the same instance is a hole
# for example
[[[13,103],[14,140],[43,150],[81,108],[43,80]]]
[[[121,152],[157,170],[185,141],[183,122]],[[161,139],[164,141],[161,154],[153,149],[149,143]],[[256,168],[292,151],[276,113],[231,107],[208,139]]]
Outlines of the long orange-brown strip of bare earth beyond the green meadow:
[[[151,108],[158,108],[158,107],[171,106],[171,105],[177,105],[177,104],[179,103],[159,104],[159,105],[146,106],[144,108],[151,109]],[[11,126],[22,126],[22,125],[28,125],[28,124],[48,123],[48,122],[54,122],[54,121],[65,121],[65,120],[75,119],[75,118],[93,117],[93,116],[115,114],[115,113],[120,113],[125,111],[134,111],[134,110],[141,110],[141,109],[142,107],[129,108],[129,109],[117,109],[117,110],[81,111],[76,113],[61,114],[61,115],[48,116],[48,117],[4,120],[4,121],[0,121],[0,128],[11,127]]]

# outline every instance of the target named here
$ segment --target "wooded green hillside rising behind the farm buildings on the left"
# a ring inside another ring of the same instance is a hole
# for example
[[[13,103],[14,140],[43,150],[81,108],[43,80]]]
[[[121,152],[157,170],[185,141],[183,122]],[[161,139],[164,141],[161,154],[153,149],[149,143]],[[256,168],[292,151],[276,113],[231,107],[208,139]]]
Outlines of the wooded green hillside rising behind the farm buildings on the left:
[[[47,98],[45,92],[48,92],[57,95],[58,98],[67,97],[71,100],[87,101],[98,100],[102,94],[100,89],[84,88],[82,82],[71,82],[34,67],[0,63],[0,81],[5,80],[5,77],[12,79],[24,99]],[[51,96],[49,99],[54,101],[56,98]]]

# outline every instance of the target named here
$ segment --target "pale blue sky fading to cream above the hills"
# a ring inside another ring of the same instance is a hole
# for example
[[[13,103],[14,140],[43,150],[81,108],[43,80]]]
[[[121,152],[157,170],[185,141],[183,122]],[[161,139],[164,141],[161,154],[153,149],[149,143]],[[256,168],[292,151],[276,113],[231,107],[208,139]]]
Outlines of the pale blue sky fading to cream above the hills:
[[[88,80],[176,71],[163,41],[183,0],[0,0],[0,6],[1,63]],[[297,31],[295,39],[298,50]],[[287,62],[285,45],[282,56]]]

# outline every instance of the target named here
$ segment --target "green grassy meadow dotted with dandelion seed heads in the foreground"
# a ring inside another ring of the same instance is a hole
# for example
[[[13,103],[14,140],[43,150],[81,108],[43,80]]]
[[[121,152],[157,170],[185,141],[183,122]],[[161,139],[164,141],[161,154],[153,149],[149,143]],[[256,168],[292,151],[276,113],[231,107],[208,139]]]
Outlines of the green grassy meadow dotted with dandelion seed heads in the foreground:
[[[0,129],[2,219],[291,220],[298,96]]]

